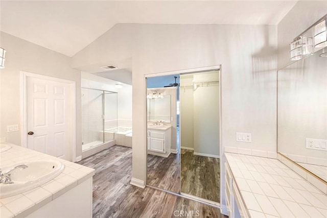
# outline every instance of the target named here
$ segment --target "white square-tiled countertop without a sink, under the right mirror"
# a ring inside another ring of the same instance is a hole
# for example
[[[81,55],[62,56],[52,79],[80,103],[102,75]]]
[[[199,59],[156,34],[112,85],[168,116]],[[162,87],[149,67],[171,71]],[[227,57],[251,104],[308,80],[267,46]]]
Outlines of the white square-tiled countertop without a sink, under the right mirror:
[[[279,160],[225,157],[251,217],[327,217],[327,196]]]

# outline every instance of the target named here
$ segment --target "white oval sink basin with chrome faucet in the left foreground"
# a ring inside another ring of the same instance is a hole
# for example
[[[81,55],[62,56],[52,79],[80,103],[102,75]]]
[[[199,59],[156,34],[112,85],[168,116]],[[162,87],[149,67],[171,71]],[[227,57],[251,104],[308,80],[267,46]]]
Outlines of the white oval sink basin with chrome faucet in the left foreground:
[[[21,164],[28,167],[17,168],[10,172],[13,184],[0,183],[0,199],[36,188],[57,177],[65,168],[65,165],[57,160],[37,160],[14,164],[1,169],[3,173],[6,173]]]

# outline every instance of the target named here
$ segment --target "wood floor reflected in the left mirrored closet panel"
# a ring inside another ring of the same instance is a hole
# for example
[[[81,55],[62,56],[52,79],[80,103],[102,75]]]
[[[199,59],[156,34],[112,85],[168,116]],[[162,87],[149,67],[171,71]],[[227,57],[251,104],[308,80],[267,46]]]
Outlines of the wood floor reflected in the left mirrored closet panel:
[[[180,193],[179,154],[167,158],[148,154],[147,184]]]

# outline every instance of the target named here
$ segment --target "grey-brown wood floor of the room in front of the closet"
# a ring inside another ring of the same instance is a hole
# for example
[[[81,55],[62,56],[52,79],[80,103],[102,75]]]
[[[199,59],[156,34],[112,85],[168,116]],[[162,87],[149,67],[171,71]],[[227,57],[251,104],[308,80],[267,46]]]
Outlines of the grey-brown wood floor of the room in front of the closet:
[[[78,163],[96,169],[93,217],[227,217],[196,201],[130,185],[131,148],[113,146]]]

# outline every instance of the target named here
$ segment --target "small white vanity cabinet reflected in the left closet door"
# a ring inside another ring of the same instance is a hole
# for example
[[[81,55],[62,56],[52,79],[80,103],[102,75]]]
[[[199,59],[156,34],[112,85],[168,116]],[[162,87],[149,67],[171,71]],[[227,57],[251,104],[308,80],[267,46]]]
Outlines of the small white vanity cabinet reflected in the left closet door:
[[[171,147],[171,126],[148,128],[148,154],[168,157]]]

